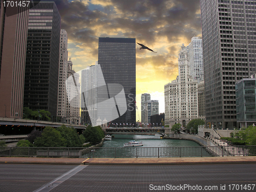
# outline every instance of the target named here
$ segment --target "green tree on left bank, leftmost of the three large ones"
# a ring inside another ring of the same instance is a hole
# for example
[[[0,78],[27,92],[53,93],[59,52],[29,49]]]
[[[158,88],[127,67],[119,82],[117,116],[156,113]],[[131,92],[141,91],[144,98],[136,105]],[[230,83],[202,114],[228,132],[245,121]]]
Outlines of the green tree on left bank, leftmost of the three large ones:
[[[34,144],[37,147],[63,147],[66,145],[65,141],[59,131],[47,126],[42,131],[41,137],[35,138]]]

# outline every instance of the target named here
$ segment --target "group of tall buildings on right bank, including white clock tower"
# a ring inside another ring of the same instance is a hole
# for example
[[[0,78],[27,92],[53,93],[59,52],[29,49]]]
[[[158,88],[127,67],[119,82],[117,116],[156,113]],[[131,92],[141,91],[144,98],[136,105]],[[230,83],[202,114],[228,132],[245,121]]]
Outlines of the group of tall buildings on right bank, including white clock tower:
[[[181,48],[179,75],[164,87],[165,124],[204,117],[216,129],[255,123],[256,2],[204,0],[200,6],[202,41],[194,37]]]

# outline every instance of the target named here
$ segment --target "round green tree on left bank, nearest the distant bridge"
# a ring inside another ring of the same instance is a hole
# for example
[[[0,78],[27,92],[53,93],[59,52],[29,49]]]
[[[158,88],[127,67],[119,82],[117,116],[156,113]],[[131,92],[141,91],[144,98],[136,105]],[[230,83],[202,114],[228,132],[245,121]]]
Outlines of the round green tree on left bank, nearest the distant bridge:
[[[91,144],[99,143],[104,137],[105,134],[102,131],[100,126],[88,126],[87,129],[83,132],[84,138],[86,138],[86,142],[90,142]]]

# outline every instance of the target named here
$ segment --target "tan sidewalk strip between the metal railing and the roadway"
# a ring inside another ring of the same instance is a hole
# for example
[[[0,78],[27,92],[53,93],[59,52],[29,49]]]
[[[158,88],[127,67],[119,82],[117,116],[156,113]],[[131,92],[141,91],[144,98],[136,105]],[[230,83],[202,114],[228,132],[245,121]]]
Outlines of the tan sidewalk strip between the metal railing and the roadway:
[[[82,164],[82,165],[172,165],[256,163],[256,156],[239,157],[166,157],[166,158],[43,158],[0,157],[0,163]]]

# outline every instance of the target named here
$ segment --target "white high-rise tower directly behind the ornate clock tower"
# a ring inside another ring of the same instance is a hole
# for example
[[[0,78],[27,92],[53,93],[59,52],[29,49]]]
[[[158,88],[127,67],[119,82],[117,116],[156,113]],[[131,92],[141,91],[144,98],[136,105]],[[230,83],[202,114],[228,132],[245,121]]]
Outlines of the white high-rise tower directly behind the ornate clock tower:
[[[192,37],[186,47],[189,60],[189,73],[198,82],[204,80],[203,40],[201,37]]]

